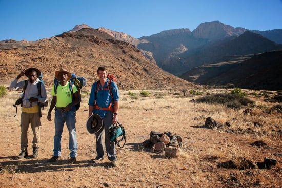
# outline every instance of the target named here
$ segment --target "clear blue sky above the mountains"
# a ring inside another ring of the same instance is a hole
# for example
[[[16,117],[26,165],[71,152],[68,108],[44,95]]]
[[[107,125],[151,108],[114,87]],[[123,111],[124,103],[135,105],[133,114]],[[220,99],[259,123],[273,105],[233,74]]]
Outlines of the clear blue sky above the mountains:
[[[135,38],[218,20],[250,30],[282,29],[282,0],[0,0],[0,40],[38,40],[86,24]]]

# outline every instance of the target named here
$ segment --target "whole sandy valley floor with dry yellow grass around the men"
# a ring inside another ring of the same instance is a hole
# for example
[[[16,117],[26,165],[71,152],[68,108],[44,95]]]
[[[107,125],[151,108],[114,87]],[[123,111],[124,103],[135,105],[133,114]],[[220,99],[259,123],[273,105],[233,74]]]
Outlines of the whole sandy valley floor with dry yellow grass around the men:
[[[78,156],[76,164],[69,164],[68,132],[62,137],[62,159],[49,163],[52,156],[54,121],[47,121],[48,108],[43,110],[41,147],[37,159],[15,160],[19,154],[21,109],[15,115],[12,104],[18,91],[9,91],[0,98],[0,187],[281,187],[281,113],[265,113],[264,109],[276,103],[264,101],[263,96],[248,98],[255,101],[252,114],[232,110],[223,105],[194,103],[192,99],[229,90],[205,90],[202,95],[190,93],[183,97],[181,91],[147,90],[142,97],[140,90],[120,90],[119,122],[126,129],[126,145],[117,148],[119,165],[110,168],[110,161],[91,163],[96,156],[95,136],[86,130],[88,95],[84,88],[82,106],[77,112]],[[88,91],[88,92],[87,92]],[[48,89],[50,97],[50,89]],[[180,94],[180,95],[179,95]],[[275,92],[269,92],[274,95]],[[263,108],[258,108],[263,107]],[[52,115],[53,117],[54,115]],[[205,119],[231,124],[230,128],[204,128]],[[260,122],[262,127],[254,127]],[[250,131],[251,130],[251,131]],[[149,139],[151,131],[171,131],[183,139],[183,155],[167,158],[164,153],[154,153],[142,143]],[[29,155],[32,152],[32,131],[29,129]],[[264,147],[251,143],[263,140]],[[243,158],[263,162],[275,158],[271,169],[222,168],[220,163],[232,160],[240,163]]]

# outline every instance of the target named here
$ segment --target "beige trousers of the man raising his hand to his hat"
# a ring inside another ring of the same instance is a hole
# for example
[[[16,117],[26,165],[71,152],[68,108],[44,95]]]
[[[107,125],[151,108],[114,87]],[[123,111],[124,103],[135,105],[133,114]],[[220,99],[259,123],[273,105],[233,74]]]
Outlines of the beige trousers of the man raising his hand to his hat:
[[[41,122],[38,112],[36,113],[26,113],[22,112],[21,115],[21,150],[25,150],[28,147],[27,131],[31,124],[31,129],[33,132],[32,147],[39,147],[40,141],[40,128]]]

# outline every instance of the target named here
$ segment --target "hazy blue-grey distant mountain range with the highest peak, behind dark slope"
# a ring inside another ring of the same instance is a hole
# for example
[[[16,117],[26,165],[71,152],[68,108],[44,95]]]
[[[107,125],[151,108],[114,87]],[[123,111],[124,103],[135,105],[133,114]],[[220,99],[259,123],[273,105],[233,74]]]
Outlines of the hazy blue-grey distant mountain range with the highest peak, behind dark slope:
[[[259,34],[217,21],[200,24],[192,32],[175,29],[139,39],[139,49],[152,52],[159,67],[177,76],[200,65],[228,60],[234,55],[281,48]]]

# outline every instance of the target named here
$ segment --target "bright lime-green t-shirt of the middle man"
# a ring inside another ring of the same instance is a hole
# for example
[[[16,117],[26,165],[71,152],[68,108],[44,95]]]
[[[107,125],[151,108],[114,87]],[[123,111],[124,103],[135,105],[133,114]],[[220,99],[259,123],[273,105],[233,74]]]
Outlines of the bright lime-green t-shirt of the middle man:
[[[69,103],[72,102],[70,82],[69,81],[67,82],[67,84],[65,86],[58,84],[57,94],[55,93],[54,87],[55,87],[55,85],[53,85],[51,95],[57,97],[56,107],[59,107],[59,108],[66,107]],[[73,91],[73,93],[75,93],[77,91],[76,86],[72,85],[72,91]]]

